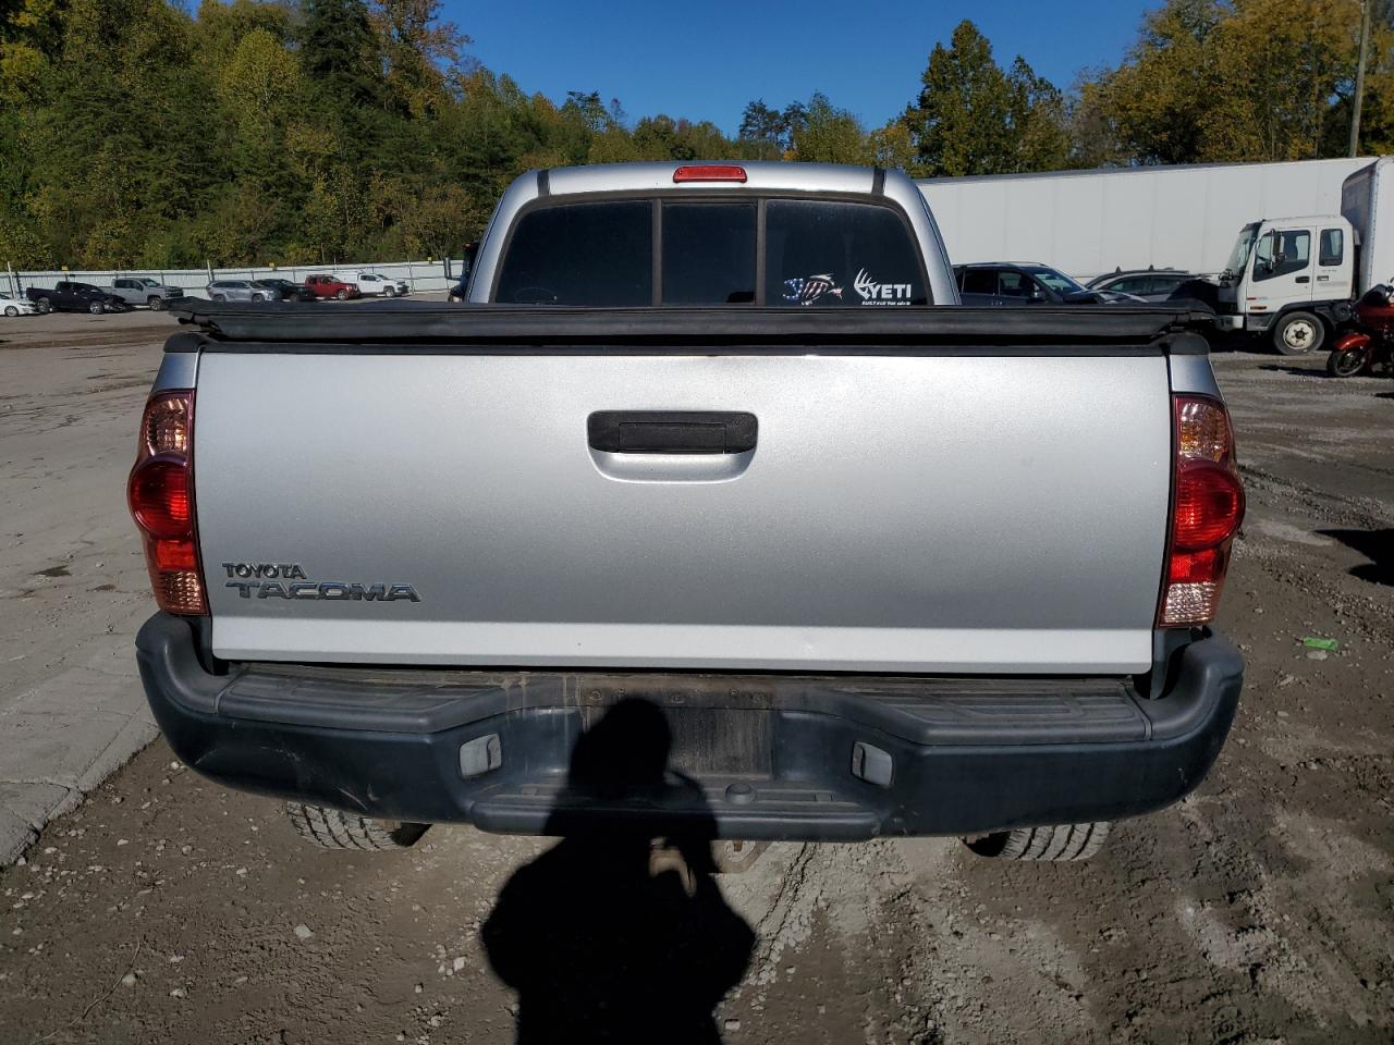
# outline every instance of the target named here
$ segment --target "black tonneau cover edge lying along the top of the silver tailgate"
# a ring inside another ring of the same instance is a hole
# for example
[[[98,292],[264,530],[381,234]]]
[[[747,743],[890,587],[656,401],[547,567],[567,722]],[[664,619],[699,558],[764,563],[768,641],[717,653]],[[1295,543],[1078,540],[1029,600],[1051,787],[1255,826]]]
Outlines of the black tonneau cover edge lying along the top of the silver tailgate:
[[[173,336],[166,351],[413,353],[605,351],[722,353],[990,351],[993,354],[1203,354],[1195,333],[1213,314],[1190,305],[1030,305],[969,308],[574,308],[454,305],[428,301],[369,304],[170,304],[199,327]],[[1189,333],[1188,333],[1189,332]]]

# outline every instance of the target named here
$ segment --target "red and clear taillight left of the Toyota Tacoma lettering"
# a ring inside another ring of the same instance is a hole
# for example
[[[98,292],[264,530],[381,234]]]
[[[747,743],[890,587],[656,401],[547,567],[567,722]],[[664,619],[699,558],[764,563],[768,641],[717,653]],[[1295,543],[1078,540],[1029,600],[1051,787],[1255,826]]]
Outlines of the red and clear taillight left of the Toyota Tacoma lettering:
[[[125,497],[145,541],[155,602],[166,613],[208,613],[194,528],[192,390],[162,392],[145,404]]]

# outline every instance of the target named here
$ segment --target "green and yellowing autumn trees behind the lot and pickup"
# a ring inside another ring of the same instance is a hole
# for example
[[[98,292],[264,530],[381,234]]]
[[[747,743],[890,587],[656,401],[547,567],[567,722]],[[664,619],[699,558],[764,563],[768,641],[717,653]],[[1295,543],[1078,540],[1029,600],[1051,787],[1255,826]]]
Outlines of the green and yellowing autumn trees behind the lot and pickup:
[[[1394,150],[1374,4],[1361,146]],[[177,268],[446,256],[531,167],[788,159],[916,177],[1340,156],[1361,0],[1167,0],[1062,89],[970,21],[866,127],[814,91],[707,120],[527,93],[439,0],[0,0],[0,261]]]

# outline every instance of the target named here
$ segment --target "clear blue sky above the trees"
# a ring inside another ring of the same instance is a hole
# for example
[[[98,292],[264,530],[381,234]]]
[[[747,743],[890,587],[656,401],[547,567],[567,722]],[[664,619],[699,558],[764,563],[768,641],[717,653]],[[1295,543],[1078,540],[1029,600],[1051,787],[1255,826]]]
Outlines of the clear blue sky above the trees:
[[[630,120],[711,120],[735,132],[746,102],[771,106],[825,92],[868,127],[919,93],[938,40],[972,18],[998,63],[1022,54],[1068,88],[1082,68],[1117,63],[1160,0],[445,0],[474,39],[470,54],[524,91],[619,98]]]

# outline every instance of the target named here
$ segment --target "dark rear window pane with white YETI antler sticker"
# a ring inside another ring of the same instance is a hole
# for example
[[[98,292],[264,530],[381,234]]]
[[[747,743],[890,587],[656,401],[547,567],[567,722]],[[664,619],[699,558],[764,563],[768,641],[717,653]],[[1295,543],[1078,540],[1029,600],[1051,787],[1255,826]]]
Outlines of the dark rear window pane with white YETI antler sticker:
[[[923,305],[920,258],[889,208],[771,199],[765,209],[765,304]]]

